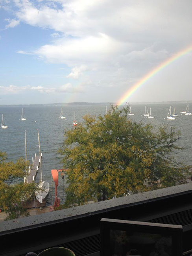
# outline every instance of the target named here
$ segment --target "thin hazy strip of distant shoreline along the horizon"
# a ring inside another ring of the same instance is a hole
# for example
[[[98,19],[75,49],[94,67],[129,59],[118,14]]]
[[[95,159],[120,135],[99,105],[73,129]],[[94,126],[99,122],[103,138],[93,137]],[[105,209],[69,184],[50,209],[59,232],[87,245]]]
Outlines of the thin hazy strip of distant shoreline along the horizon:
[[[148,101],[148,102],[128,102],[129,105],[142,105],[142,104],[168,104],[168,103],[192,103],[192,100],[179,100],[179,101]],[[47,104],[0,104],[0,107],[18,107],[18,106],[77,106],[77,105],[116,105],[116,102],[69,102],[69,103],[47,103]],[[126,104],[126,103],[125,103]]]

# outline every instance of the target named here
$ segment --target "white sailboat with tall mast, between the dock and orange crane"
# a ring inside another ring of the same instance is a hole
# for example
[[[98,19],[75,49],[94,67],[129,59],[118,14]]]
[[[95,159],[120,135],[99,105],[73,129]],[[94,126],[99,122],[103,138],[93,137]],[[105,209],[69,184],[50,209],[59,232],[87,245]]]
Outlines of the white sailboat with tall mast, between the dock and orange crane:
[[[42,169],[41,169],[41,148],[40,148],[40,140],[39,140],[39,131],[37,130],[38,134],[38,142],[39,142],[39,161],[40,161],[40,183],[38,185],[39,190],[35,192],[37,200],[42,203],[43,200],[46,199],[49,193],[49,182],[42,181]]]

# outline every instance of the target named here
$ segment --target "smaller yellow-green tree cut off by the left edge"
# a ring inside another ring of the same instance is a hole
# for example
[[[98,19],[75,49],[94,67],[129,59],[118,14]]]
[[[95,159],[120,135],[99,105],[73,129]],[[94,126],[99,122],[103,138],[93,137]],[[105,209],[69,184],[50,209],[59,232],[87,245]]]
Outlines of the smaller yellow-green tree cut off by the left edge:
[[[8,213],[7,219],[28,216],[23,200],[31,198],[37,190],[35,183],[24,184],[26,163],[20,158],[16,163],[7,161],[5,152],[0,152],[0,208]]]

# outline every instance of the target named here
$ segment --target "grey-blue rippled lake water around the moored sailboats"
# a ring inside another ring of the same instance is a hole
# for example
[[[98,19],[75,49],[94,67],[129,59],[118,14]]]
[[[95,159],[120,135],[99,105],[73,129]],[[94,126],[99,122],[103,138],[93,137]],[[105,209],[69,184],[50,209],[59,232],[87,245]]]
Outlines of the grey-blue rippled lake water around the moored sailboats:
[[[182,139],[177,142],[185,150],[177,153],[177,158],[181,158],[187,164],[192,164],[192,115],[181,114],[180,111],[185,110],[187,104],[174,104],[176,113],[179,117],[175,120],[166,118],[170,104],[150,104],[151,115],[154,119],[144,117],[145,105],[138,104],[131,106],[131,112],[134,116],[130,119],[143,124],[151,123],[154,128],[160,125],[168,124],[175,126],[177,130],[181,130]],[[174,107],[172,105],[172,109]],[[109,109],[109,105],[107,109]],[[51,177],[51,169],[62,169],[61,156],[57,154],[57,150],[63,142],[63,134],[66,129],[73,128],[74,111],[76,112],[76,121],[82,122],[82,117],[86,114],[104,115],[105,105],[78,105],[64,106],[63,116],[66,119],[60,119],[61,106],[24,106],[24,115],[26,121],[21,121],[21,106],[0,107],[0,119],[4,114],[4,123],[8,126],[7,129],[0,129],[0,151],[7,152],[9,160],[17,160],[20,157],[25,158],[25,130],[27,137],[27,158],[32,161],[35,153],[39,153],[37,129],[39,130],[41,152],[42,152],[42,174],[44,179],[50,182],[50,197],[49,201],[52,204],[54,200],[54,182]],[[189,111],[192,111],[192,106],[189,105]],[[53,187],[53,189],[52,189]],[[59,195],[61,200],[65,199],[65,179],[62,180],[59,176]],[[53,193],[52,193],[53,190]]]

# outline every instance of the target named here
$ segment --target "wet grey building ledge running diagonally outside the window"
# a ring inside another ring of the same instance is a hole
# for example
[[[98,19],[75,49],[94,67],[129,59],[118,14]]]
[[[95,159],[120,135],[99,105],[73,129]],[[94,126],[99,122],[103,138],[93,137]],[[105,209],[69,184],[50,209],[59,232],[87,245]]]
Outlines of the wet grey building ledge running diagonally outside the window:
[[[2,221],[0,223],[0,234],[13,233],[18,230],[25,230],[35,228],[37,226],[50,224],[51,222],[67,221],[70,219],[94,215],[98,212],[111,211],[115,208],[124,208],[134,204],[142,204],[153,200],[161,200],[162,198],[175,197],[179,194],[190,193],[192,191],[192,183],[182,184],[174,187],[167,187],[157,189],[144,193],[138,193],[120,198],[114,198],[102,202],[95,202],[83,206],[76,206],[59,211],[52,211],[42,213],[41,215],[34,215],[30,217],[23,217],[9,221]]]

